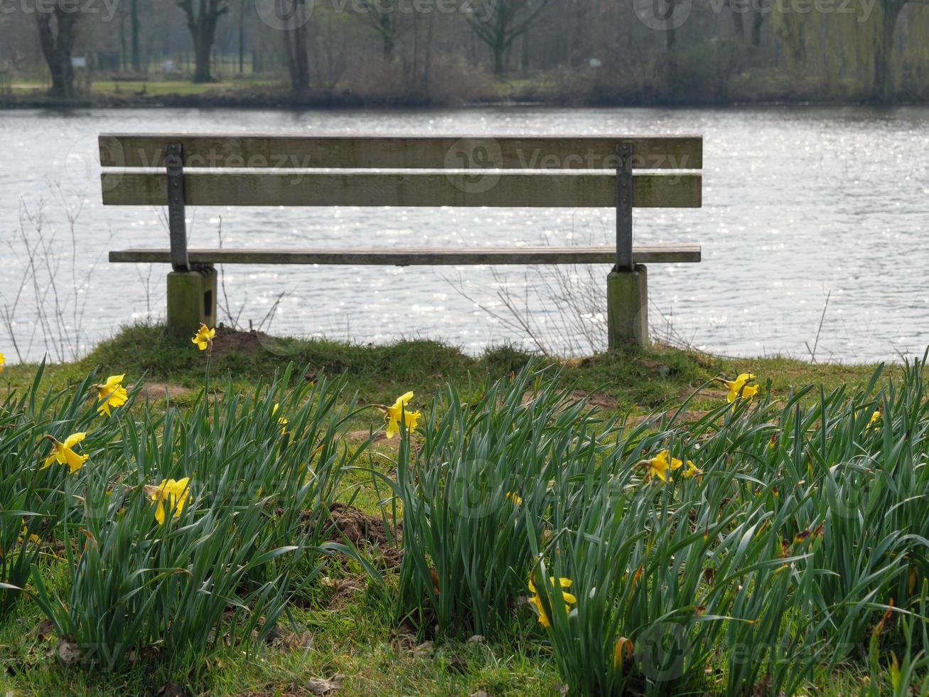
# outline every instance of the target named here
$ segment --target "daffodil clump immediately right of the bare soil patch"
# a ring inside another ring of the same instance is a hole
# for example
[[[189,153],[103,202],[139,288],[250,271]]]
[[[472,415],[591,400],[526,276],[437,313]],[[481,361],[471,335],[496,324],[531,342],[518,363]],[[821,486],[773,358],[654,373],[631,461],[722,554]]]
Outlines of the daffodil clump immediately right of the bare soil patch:
[[[399,614],[443,634],[486,634],[509,624],[531,565],[527,520],[550,489],[595,463],[609,422],[566,400],[556,380],[526,368],[487,381],[466,401],[447,386],[412,452],[400,444],[403,510]]]

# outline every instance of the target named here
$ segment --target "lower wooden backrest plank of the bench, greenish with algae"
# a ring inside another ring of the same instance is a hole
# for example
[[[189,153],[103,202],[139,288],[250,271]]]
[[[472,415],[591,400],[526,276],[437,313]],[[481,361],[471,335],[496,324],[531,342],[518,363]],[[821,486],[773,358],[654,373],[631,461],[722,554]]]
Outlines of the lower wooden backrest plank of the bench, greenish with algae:
[[[164,205],[160,173],[104,172],[103,203]],[[613,207],[616,175],[532,172],[467,175],[422,172],[192,172],[184,175],[188,205],[360,205]],[[700,175],[635,175],[633,205],[700,207]]]

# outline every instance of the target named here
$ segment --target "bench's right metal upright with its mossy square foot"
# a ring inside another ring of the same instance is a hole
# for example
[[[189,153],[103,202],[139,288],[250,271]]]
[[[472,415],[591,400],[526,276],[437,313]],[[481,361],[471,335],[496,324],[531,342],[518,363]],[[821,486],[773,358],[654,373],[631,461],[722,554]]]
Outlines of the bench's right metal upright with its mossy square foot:
[[[616,146],[616,266],[607,277],[608,347],[648,346],[646,268],[633,261],[633,146]]]

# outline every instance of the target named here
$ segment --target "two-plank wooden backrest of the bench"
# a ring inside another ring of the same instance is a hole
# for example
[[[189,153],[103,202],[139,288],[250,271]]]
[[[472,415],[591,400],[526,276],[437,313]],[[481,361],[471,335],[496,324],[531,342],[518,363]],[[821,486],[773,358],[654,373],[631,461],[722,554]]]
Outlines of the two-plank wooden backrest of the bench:
[[[658,170],[635,175],[634,206],[700,206],[699,136],[99,138],[111,205],[167,204],[172,144],[188,205],[613,207],[622,143],[632,168]]]

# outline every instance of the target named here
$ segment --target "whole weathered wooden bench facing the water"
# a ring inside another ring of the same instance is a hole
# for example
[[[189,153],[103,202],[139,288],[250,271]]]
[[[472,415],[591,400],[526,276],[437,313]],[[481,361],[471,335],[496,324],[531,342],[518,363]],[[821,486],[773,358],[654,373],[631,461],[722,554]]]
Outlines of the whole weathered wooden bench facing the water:
[[[644,346],[644,265],[700,261],[697,244],[633,245],[634,207],[700,206],[700,136],[103,134],[99,148],[104,204],[167,206],[169,248],[114,251],[110,261],[171,263],[167,323],[177,335],[216,322],[216,264],[611,264],[608,344]],[[608,207],[616,245],[188,249],[186,205]]]

